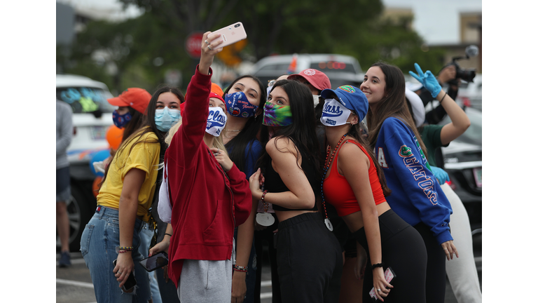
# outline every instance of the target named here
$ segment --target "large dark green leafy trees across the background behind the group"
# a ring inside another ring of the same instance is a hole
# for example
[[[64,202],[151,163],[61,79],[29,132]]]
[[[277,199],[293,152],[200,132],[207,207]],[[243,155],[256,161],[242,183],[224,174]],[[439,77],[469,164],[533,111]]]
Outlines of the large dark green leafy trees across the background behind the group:
[[[380,0],[120,0],[143,8],[138,18],[88,23],[71,53],[57,50],[65,72],[103,81],[116,93],[127,87],[153,92],[167,69],[179,69],[185,87],[197,59],[185,50],[195,31],[216,30],[241,21],[247,46],[238,56],[257,61],[281,53],[340,53],[359,60],[362,69],[378,60],[399,66],[404,74],[418,62],[432,72],[443,66],[442,49],[422,50],[423,39],[410,18],[381,18]]]

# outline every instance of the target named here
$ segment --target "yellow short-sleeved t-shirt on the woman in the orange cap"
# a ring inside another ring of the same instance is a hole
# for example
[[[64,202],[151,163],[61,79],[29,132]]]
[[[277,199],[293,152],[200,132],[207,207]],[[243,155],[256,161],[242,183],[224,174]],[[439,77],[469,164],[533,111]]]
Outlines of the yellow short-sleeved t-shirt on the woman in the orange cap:
[[[133,144],[140,140],[141,142]],[[155,141],[148,143],[144,141]],[[130,149],[132,147],[131,152]],[[155,133],[146,133],[142,137],[135,137],[118,151],[110,163],[109,173],[97,195],[97,205],[119,208],[123,178],[131,168],[138,168],[146,172],[146,179],[142,183],[138,194],[137,215],[143,215],[144,221],[149,221],[148,210],[155,193],[157,173],[159,166],[160,144]]]

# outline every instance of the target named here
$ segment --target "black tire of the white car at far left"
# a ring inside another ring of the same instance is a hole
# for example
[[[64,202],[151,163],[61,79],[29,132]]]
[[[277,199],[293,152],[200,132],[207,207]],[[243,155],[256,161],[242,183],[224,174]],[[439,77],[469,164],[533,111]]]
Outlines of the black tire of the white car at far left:
[[[85,225],[90,221],[93,211],[89,198],[94,198],[91,191],[71,182],[71,199],[67,201],[67,216],[69,217],[69,251],[78,252],[81,249],[81,236]],[[95,203],[94,203],[95,204]],[[56,232],[56,248],[60,250],[60,236]]]

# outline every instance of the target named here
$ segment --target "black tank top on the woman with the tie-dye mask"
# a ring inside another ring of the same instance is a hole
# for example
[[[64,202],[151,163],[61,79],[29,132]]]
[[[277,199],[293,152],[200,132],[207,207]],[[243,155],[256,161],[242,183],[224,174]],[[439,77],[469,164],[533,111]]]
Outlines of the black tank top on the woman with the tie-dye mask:
[[[301,159],[303,159],[303,163],[301,163],[301,168],[303,168],[303,171],[305,172],[305,175],[308,179],[308,182],[310,183],[310,186],[312,187],[312,190],[314,191],[314,194],[319,194],[319,184],[321,182],[321,177],[317,176],[316,170],[315,170],[315,162],[314,159],[307,158],[305,153],[300,147],[297,147],[299,150],[299,153],[301,154]],[[269,158],[270,159],[270,158]],[[284,192],[289,191],[288,187],[284,182],[282,182],[282,179],[280,178],[280,175],[275,171],[273,166],[271,165],[271,160],[267,162],[265,165],[265,189],[268,192]],[[282,206],[277,206],[273,204],[273,210],[280,210],[280,211],[290,211],[290,210],[317,210],[317,206],[314,205],[313,208],[309,209],[290,209],[290,208],[284,208]]]

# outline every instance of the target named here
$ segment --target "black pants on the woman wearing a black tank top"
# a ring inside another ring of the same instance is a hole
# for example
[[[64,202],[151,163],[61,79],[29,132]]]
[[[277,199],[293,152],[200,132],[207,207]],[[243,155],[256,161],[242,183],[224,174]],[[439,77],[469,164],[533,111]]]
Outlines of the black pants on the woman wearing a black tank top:
[[[338,302],[342,250],[320,213],[278,224],[277,264],[282,302]]]

